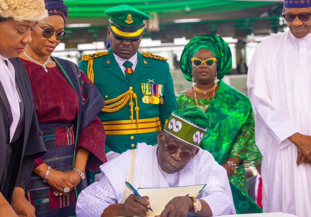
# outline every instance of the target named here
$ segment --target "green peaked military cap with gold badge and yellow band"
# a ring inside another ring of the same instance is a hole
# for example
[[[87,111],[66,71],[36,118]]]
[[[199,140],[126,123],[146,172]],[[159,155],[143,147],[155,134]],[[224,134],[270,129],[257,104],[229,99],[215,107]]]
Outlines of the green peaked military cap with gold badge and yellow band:
[[[110,16],[110,30],[123,38],[138,38],[144,32],[143,20],[149,20],[150,16],[128,5],[118,5],[105,10]]]

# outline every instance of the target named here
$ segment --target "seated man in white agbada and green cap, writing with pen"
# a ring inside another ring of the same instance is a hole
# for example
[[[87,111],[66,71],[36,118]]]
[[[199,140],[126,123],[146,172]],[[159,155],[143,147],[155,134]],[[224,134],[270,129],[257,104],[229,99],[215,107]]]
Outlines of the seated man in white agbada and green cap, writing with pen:
[[[126,192],[125,181],[131,179],[135,189],[207,184],[197,200],[173,198],[161,217],[185,217],[189,210],[198,216],[235,214],[226,170],[198,147],[208,126],[198,107],[174,111],[158,133],[158,145],[139,143],[137,149],[101,165],[102,179],[78,197],[77,216],[148,216],[148,197]]]

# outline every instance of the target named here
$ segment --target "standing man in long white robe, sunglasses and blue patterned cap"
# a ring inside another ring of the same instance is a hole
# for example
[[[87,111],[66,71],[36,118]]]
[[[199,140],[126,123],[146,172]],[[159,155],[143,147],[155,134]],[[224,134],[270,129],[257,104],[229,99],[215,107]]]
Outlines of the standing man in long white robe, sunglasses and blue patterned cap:
[[[311,216],[311,2],[284,1],[290,31],[271,34],[248,68],[263,211]]]

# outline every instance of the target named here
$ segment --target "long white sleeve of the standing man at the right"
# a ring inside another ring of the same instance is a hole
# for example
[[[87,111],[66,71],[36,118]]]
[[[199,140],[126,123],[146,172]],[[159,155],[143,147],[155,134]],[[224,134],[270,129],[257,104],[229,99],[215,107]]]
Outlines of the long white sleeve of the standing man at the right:
[[[255,133],[263,133],[258,132],[261,131],[260,128],[262,125],[271,135],[271,138],[276,145],[279,148],[284,148],[291,143],[287,138],[298,131],[277,109],[278,105],[275,105],[272,101],[272,85],[275,84],[272,84],[270,80],[270,76],[274,72],[269,70],[269,55],[272,52],[269,50],[269,43],[273,42],[272,39],[265,39],[256,48],[252,61],[248,67],[247,88],[248,97],[252,103],[255,114],[257,131]],[[261,149],[261,144],[257,143],[257,138],[256,144],[258,145],[258,148]]]

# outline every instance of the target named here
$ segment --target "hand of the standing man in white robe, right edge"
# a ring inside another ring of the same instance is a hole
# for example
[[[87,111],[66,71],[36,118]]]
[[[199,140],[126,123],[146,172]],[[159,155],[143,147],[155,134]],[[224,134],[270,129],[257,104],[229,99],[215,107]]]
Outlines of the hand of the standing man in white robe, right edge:
[[[311,136],[295,133],[288,139],[295,144],[295,146],[304,156],[311,160]]]

